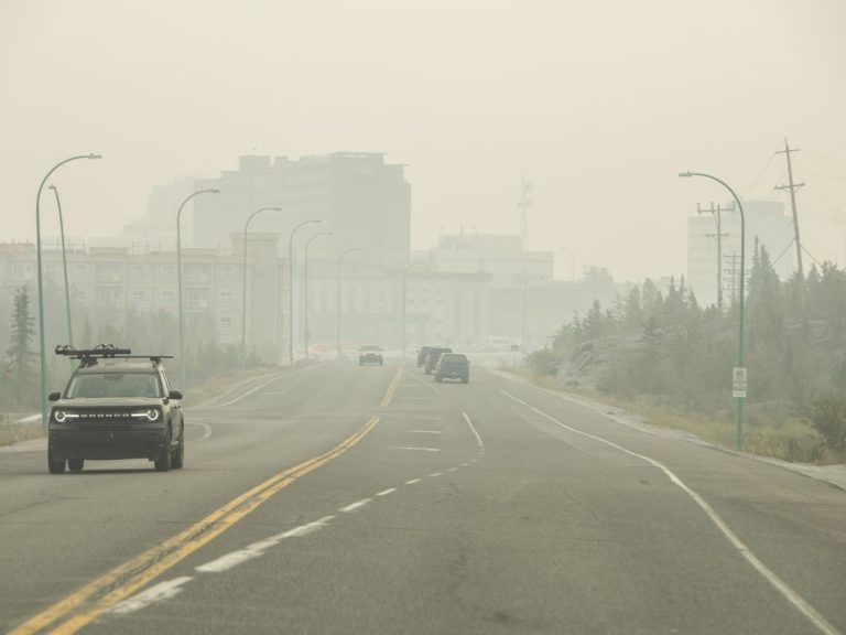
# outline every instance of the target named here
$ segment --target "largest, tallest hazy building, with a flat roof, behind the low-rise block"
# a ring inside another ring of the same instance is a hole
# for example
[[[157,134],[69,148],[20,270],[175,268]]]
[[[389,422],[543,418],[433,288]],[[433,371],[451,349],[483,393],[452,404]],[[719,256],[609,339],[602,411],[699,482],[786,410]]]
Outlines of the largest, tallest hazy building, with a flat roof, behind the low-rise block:
[[[282,249],[296,224],[319,219],[319,229],[310,233],[333,235],[314,244],[310,254],[315,258],[337,258],[356,247],[360,251],[350,254],[350,260],[397,267],[409,261],[411,185],[403,165],[386,163],[383,154],[335,152],[296,161],[241,157],[238,170],[195,186],[220,191],[194,200],[195,246],[228,245],[252,212],[281,207],[257,217],[250,227],[279,233]]]

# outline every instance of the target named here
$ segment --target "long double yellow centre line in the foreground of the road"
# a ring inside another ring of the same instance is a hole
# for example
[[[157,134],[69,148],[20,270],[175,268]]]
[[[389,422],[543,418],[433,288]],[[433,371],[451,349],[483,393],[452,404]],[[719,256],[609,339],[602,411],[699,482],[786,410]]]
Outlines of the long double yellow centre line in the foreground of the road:
[[[389,387],[390,390],[390,387]],[[271,476],[263,483],[252,487],[223,507],[216,509],[202,520],[184,531],[169,538],[161,545],[141,553],[97,580],[86,584],[80,590],[61,600],[53,606],[39,613],[21,624],[10,635],[29,635],[46,628],[58,620],[66,622],[56,626],[52,633],[69,635],[109,611],[118,602],[132,595],[151,580],[171,569],[191,553],[214,540],[217,536],[232,527],[250,512],[259,507],[280,489],[286,487],[301,476],[336,459],[364,439],[379,422],[373,417],[364,428],[346,439],[334,449],[315,456],[294,467],[284,470]],[[98,595],[106,593],[101,598]],[[75,611],[82,612],[73,614]]]

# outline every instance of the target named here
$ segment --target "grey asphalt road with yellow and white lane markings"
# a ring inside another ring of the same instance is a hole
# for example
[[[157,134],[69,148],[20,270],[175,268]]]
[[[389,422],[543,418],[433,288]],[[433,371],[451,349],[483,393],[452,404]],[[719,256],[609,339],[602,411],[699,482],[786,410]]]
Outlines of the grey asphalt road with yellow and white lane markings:
[[[474,373],[257,378],[166,474],[0,455],[0,627],[846,632],[846,493]]]

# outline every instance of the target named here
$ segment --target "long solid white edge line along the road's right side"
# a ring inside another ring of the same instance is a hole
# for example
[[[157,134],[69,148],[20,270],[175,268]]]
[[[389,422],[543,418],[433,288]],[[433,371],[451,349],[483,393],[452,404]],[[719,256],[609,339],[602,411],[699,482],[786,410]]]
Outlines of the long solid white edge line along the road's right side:
[[[675,473],[670,470],[666,465],[661,463],[660,461],[657,461],[650,456],[647,456],[644,454],[639,454],[637,452],[633,452],[631,450],[628,450],[623,448],[622,445],[619,445],[615,443],[614,441],[608,441],[607,439],[603,439],[601,437],[597,437],[596,434],[590,434],[589,432],[584,432],[582,430],[577,430],[576,428],[572,428],[567,426],[566,423],[562,423],[551,415],[547,415],[546,412],[540,410],[539,408],[535,408],[534,406],[523,401],[519,397],[514,397],[507,390],[499,389],[500,392],[506,395],[507,397],[513,399],[514,401],[522,403],[527,408],[533,410],[541,417],[544,417],[545,419],[549,419],[553,423],[564,428],[565,430],[570,430],[571,432],[575,432],[576,434],[581,434],[583,437],[587,437],[589,439],[594,439],[595,441],[598,441],[599,443],[604,443],[610,448],[614,448],[616,450],[619,450],[620,452],[623,452],[626,454],[629,454],[630,456],[636,456],[638,459],[641,459],[649,463],[650,465],[658,467],[661,470],[666,477],[670,480],[671,483],[677,485],[687,496],[690,496],[696,505],[698,505],[703,512],[708,516],[712,523],[719,529],[719,531],[728,539],[729,542],[737,549],[740,555],[752,566],[752,568],[758,571],[758,573],[767,580],[781,595],[788,600],[793,606],[804,615],[811,624],[813,624],[818,631],[822,633],[825,633],[826,635],[838,635],[839,631],[837,631],[834,626],[832,626],[828,621],[823,617],[816,609],[811,606],[811,604],[805,601],[804,598],[802,598],[799,593],[793,591],[787,582],[784,582],[781,578],[779,578],[776,572],[773,572],[767,564],[764,564],[761,560],[758,559],[758,557],[752,552],[749,547],[746,546],[746,543],[740,540],[740,538],[726,525],[726,523],[723,520],[723,518],[714,512],[711,505],[708,505],[705,499],[699,496],[696,492],[691,489],[684,481],[682,481],[679,476],[675,475]]]

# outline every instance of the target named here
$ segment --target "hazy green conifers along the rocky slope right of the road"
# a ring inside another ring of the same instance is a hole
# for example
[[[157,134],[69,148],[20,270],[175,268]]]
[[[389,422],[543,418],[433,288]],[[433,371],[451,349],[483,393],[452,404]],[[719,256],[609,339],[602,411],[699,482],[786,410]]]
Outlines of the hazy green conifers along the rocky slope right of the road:
[[[804,281],[781,281],[756,245],[745,322],[749,422],[799,418],[846,451],[846,270],[823,262]],[[623,399],[730,417],[737,335],[736,302],[720,312],[701,306],[683,278],[665,290],[646,280],[576,314],[529,364],[565,384],[592,377],[593,388]]]

